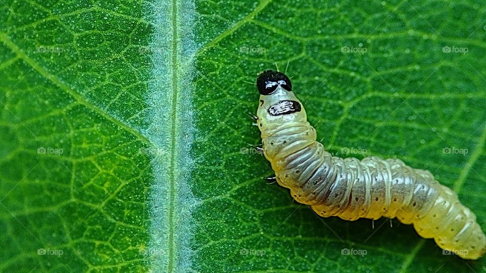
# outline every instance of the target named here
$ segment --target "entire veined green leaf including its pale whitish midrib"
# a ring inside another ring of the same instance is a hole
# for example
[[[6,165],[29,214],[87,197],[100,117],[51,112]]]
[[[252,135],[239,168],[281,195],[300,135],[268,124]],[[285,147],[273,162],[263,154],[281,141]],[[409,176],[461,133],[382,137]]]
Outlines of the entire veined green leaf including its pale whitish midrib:
[[[265,184],[245,83],[276,62],[331,152],[430,170],[486,231],[474,1],[3,4],[0,271],[486,271]]]

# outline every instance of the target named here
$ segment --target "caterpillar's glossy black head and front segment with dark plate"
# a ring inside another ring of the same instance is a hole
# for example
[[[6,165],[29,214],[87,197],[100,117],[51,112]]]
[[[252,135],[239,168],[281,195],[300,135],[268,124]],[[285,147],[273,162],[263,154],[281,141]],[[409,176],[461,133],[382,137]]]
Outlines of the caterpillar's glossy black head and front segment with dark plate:
[[[292,91],[290,79],[281,72],[263,71],[257,78],[260,104],[257,111],[259,128],[275,128],[289,122],[306,122],[305,110]]]

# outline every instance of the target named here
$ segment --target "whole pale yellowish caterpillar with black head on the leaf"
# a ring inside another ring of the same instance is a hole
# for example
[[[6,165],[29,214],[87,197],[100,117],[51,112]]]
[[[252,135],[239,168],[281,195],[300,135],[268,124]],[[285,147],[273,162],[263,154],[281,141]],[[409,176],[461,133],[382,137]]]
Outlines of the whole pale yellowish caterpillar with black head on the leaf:
[[[332,156],[316,141],[316,131],[284,73],[265,70],[256,85],[260,102],[255,119],[263,154],[277,183],[290,189],[297,202],[322,217],[396,217],[464,259],[478,259],[486,252],[486,236],[476,215],[431,172],[399,159]]]

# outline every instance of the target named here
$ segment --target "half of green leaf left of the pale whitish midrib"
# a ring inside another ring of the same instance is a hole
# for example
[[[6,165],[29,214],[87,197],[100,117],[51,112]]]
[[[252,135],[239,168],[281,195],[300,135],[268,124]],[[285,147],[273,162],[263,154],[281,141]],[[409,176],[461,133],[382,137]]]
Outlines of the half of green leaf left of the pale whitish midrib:
[[[126,4],[1,5],[0,271],[149,266],[153,25]]]

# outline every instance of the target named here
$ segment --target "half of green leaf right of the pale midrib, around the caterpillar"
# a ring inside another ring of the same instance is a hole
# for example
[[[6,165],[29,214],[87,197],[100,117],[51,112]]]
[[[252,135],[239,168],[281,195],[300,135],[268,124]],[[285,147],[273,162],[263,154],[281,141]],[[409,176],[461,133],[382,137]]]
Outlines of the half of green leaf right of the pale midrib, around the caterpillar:
[[[193,155],[200,159],[191,185],[203,203],[194,214],[195,268],[482,272],[484,259],[442,255],[411,225],[393,220],[390,228],[380,219],[372,229],[368,219],[319,218],[287,189],[265,184],[270,165],[247,145],[260,143],[246,115],[259,95],[244,81],[277,62],[331,152],[396,156],[428,169],[485,227],[486,10],[473,1],[314,3],[237,2],[217,16],[223,5],[198,7],[211,19],[197,29],[218,34],[199,34],[196,60]],[[453,147],[468,153],[442,152]],[[345,248],[366,255],[341,255]]]

